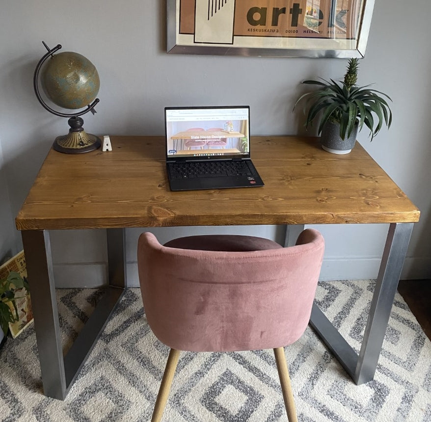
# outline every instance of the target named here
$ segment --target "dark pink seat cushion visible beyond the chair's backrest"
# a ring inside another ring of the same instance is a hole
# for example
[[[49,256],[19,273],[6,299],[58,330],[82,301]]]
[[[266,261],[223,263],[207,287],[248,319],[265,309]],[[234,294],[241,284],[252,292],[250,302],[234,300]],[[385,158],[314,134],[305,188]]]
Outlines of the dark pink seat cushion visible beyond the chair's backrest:
[[[167,247],[190,250],[212,250],[220,252],[250,252],[279,249],[283,246],[269,239],[242,235],[199,235],[174,239],[164,244]]]

